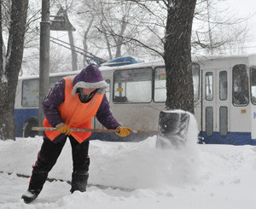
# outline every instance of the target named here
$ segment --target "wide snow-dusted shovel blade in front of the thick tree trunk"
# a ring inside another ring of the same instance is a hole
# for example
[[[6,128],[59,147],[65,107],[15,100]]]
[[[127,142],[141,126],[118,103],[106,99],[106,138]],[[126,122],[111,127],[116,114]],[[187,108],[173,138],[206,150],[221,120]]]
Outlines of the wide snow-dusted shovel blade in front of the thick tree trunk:
[[[157,136],[157,148],[183,148],[187,140],[189,113],[182,111],[161,111]]]

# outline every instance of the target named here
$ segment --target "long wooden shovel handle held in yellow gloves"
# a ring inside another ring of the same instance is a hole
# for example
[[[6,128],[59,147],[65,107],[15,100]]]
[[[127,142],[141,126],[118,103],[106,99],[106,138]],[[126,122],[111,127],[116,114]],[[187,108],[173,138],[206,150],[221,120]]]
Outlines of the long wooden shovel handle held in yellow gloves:
[[[57,131],[56,128],[53,127],[32,127],[32,131]],[[102,132],[102,133],[118,133],[118,130],[111,130],[111,129],[70,129],[69,131],[89,131],[89,132]],[[150,134],[160,134],[161,131],[135,131],[132,130],[131,133],[150,133]]]

